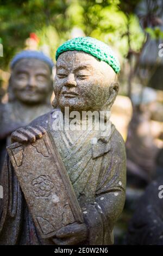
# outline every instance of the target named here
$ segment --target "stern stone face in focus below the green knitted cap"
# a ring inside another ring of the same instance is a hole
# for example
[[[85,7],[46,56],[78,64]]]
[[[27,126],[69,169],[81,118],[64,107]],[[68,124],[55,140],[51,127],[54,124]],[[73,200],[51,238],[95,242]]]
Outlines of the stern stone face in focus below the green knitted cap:
[[[109,87],[115,81],[114,70],[90,54],[67,51],[60,54],[54,80],[54,93],[60,108],[101,110],[109,99]]]

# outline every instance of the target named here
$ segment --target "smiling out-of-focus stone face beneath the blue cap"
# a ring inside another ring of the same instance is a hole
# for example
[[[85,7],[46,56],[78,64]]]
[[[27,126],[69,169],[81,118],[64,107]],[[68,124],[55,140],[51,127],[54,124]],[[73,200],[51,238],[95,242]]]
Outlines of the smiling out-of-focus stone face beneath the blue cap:
[[[51,70],[38,59],[21,59],[11,74],[10,86],[18,101],[36,104],[46,100],[52,90]]]

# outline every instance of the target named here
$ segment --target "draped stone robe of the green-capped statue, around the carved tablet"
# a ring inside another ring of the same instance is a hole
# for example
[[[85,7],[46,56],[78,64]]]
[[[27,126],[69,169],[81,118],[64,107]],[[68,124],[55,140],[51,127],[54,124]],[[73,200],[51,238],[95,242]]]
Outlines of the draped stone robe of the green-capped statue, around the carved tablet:
[[[125,200],[126,153],[124,142],[114,125],[110,136],[99,137],[97,131],[54,131],[54,109],[35,119],[50,131],[83,211],[88,229],[86,245],[110,245],[112,230],[120,216]],[[92,138],[97,138],[92,143]],[[25,172],[26,170],[24,170]],[[3,199],[0,199],[1,245],[52,245],[42,239],[24,199],[8,154],[1,174]]]

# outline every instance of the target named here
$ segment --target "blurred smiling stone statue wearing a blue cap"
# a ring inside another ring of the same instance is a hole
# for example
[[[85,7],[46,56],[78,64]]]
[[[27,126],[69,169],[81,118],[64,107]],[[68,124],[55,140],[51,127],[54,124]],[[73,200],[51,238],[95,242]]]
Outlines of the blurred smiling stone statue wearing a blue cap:
[[[0,171],[11,132],[51,109],[52,68],[52,60],[39,51],[22,51],[12,59],[9,102],[0,114]]]

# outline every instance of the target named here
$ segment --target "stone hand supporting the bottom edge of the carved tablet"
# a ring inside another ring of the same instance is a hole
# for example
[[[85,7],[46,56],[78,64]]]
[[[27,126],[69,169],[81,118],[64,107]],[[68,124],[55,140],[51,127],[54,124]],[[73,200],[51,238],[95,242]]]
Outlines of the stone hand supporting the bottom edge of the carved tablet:
[[[72,223],[59,229],[53,237],[55,245],[77,245],[87,239],[85,223]]]

